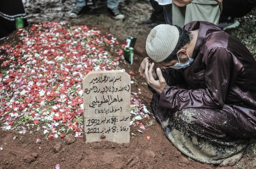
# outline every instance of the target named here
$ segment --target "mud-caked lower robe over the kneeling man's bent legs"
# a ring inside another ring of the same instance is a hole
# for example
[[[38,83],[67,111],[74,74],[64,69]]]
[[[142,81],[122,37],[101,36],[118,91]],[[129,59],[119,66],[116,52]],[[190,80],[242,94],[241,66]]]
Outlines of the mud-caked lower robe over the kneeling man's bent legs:
[[[228,112],[197,108],[178,111],[162,109],[158,106],[159,97],[158,93],[154,93],[151,101],[155,118],[170,142],[183,154],[207,164],[219,164],[236,154],[241,157],[249,138],[225,134],[225,129],[234,118]],[[232,130],[235,126],[229,127]]]

